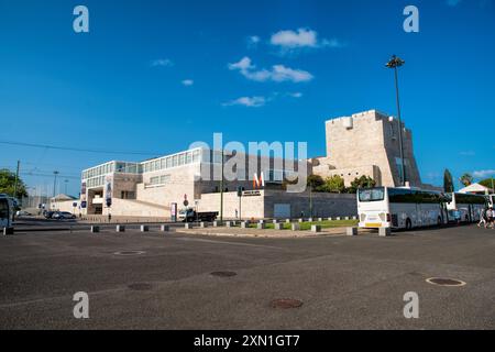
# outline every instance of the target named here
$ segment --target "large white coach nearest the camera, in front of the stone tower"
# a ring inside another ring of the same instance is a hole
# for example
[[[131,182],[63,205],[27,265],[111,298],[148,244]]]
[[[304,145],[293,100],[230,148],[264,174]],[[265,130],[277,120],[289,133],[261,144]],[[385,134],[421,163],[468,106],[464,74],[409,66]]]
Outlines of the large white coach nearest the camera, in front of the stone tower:
[[[441,226],[448,222],[441,193],[408,187],[374,187],[358,190],[360,228]]]

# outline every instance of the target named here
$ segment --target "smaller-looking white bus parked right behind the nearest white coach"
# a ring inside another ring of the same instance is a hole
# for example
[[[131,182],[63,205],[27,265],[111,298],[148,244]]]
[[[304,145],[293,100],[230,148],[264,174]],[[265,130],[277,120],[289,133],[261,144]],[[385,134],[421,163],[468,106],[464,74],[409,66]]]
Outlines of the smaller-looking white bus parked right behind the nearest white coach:
[[[486,208],[486,198],[474,194],[447,194],[449,218],[458,222],[480,221],[480,215]]]

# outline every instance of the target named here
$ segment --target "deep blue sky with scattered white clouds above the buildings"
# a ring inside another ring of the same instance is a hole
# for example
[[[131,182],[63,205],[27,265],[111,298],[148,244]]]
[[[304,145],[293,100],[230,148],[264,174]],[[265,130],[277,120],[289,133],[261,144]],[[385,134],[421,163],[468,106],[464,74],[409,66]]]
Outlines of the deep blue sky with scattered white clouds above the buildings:
[[[75,33],[73,9],[89,9]],[[406,6],[419,33],[403,30]],[[30,186],[80,169],[226,141],[305,141],[324,155],[324,121],[377,109],[414,131],[425,183],[446,167],[495,173],[495,3],[430,1],[0,0],[0,167]],[[113,152],[145,152],[148,155]],[[492,172],[491,172],[492,170]],[[32,173],[36,176],[29,176]],[[59,183],[64,185],[63,182]],[[59,190],[64,191],[64,186]]]

